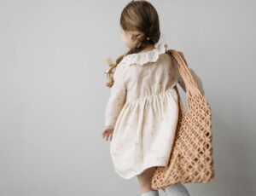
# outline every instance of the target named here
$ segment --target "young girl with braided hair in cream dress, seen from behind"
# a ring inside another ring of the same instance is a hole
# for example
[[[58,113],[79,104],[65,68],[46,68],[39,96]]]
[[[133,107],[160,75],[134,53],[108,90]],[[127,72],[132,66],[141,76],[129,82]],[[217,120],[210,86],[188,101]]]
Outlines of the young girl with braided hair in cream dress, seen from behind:
[[[185,85],[177,62],[159,43],[157,11],[146,1],[131,1],[120,17],[122,38],[129,51],[119,57],[113,72],[105,112],[103,138],[110,140],[115,172],[124,179],[137,176],[143,196],[159,196],[151,187],[156,166],[166,166],[177,126],[177,92]],[[113,66],[114,67],[114,66]],[[201,79],[189,68],[204,94]],[[182,183],[164,187],[168,196],[188,196]]]

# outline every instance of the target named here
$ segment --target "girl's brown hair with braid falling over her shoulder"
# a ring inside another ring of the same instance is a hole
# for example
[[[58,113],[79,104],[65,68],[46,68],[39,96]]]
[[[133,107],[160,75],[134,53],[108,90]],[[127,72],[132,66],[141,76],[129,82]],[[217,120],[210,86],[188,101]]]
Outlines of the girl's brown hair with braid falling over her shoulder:
[[[151,3],[144,0],[132,0],[122,10],[120,16],[120,26],[124,31],[136,31],[138,36],[135,37],[134,47],[131,47],[124,55],[113,63],[108,60],[110,69],[108,69],[108,87],[113,85],[113,69],[123,60],[125,55],[138,53],[145,49],[149,44],[158,43],[160,39],[160,22],[159,15]]]

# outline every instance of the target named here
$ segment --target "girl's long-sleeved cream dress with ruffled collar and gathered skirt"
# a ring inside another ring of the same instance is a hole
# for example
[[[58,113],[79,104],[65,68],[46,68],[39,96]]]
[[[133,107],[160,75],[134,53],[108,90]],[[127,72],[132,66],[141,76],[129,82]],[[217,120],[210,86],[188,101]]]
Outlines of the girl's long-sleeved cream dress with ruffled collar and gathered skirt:
[[[173,87],[185,87],[166,49],[166,43],[156,43],[153,50],[126,55],[113,73],[104,125],[113,128],[111,159],[124,179],[166,166],[170,158],[178,116]],[[201,79],[189,69],[204,94]]]

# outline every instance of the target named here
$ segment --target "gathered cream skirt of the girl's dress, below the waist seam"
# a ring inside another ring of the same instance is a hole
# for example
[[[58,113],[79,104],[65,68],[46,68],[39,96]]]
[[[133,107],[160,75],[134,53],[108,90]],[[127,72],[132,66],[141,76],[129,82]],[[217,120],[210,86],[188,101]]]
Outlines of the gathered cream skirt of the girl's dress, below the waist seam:
[[[115,172],[124,179],[131,179],[149,167],[166,166],[177,118],[177,92],[173,88],[126,101],[110,141]]]

